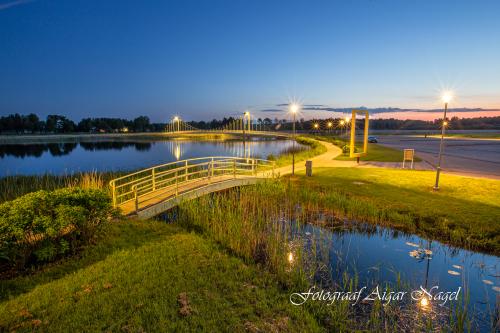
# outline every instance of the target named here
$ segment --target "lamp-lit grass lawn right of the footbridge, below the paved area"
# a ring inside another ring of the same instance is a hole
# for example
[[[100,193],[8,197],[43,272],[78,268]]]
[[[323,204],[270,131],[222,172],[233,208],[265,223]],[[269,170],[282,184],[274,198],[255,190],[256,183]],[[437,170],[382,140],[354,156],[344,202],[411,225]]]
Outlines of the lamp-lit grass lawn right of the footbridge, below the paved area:
[[[500,181],[430,171],[318,168],[298,187],[360,220],[387,224],[443,242],[500,255]],[[299,173],[300,174],[300,173]]]

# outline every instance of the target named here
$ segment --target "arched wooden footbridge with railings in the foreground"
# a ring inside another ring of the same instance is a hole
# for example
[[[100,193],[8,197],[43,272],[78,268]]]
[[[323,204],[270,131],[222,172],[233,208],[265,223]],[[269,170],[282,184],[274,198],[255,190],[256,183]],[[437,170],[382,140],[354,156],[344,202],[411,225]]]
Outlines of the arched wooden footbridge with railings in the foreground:
[[[183,200],[274,177],[275,163],[257,158],[201,157],[140,170],[110,182],[113,206],[147,219]]]

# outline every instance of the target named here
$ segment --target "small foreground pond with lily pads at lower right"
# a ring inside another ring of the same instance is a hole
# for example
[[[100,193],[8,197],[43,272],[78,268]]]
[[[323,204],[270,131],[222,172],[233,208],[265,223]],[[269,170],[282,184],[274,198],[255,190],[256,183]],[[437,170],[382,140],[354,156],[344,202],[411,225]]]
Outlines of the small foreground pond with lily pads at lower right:
[[[465,303],[473,328],[490,331],[491,323],[498,323],[500,258],[371,224],[339,221],[322,214],[314,220],[313,224],[294,228],[292,244],[298,241],[306,253],[313,252],[316,260],[320,257],[326,262],[322,270],[316,271],[316,285],[336,290],[346,277],[356,278],[358,290],[366,287],[364,296],[377,286],[381,292],[390,286],[393,291],[407,291],[406,301],[421,286],[426,291],[434,287],[432,295],[460,290],[458,304],[468,298]],[[409,303],[406,310],[427,310],[444,317],[450,306],[457,305],[449,301],[440,306],[442,301],[431,300],[422,309],[418,301]],[[407,313],[413,316],[412,311]]]

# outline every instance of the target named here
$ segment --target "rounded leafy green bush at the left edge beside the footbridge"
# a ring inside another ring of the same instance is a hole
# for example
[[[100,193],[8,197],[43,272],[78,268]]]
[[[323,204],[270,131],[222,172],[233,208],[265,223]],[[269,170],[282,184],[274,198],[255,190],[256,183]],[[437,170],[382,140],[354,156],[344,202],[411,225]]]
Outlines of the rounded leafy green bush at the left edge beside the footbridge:
[[[26,194],[0,205],[0,260],[25,268],[53,261],[88,243],[113,212],[98,189],[63,188]]]

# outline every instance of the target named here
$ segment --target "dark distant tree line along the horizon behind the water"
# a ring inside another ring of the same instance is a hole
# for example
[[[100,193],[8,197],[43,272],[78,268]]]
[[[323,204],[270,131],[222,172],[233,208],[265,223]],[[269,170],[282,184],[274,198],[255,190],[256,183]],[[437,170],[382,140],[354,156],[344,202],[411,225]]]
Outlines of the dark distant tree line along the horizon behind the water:
[[[240,121],[239,118],[224,117],[211,121],[189,121],[189,125],[198,129],[221,129],[228,124]],[[291,130],[292,123],[287,119],[257,118],[253,119],[253,126],[263,130]],[[361,124],[362,120],[360,120]],[[448,119],[449,129],[461,130],[500,130],[500,117],[476,117]],[[341,118],[312,119],[297,121],[298,130],[336,129],[341,124]],[[151,123],[149,117],[139,116],[133,120],[121,118],[84,118],[78,123],[61,115],[48,115],[44,120],[36,114],[10,114],[0,117],[0,133],[28,134],[28,133],[125,133],[125,132],[162,132],[166,123]],[[400,119],[371,119],[370,128],[379,130],[435,130],[441,126],[441,120],[400,120]]]

